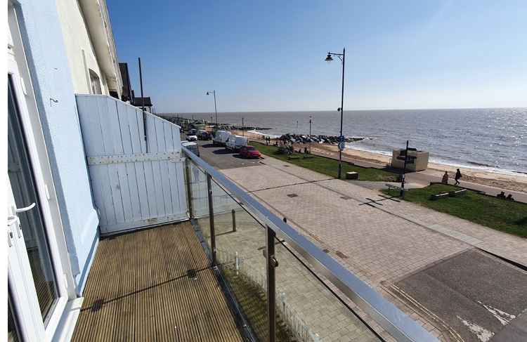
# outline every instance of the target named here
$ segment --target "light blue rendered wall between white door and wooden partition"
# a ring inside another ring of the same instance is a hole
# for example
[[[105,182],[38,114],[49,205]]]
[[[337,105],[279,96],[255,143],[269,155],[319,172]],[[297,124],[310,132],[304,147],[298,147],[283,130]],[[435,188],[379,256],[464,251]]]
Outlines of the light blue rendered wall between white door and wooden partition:
[[[98,242],[74,86],[55,0],[19,0],[20,33],[53,174],[77,291]],[[56,102],[50,100],[53,98]]]

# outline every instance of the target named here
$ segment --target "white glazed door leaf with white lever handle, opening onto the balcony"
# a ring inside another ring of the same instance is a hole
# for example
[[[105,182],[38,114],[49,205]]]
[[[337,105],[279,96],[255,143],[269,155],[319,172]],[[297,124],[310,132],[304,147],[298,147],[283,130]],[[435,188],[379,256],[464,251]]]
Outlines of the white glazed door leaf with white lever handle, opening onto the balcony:
[[[8,76],[8,283],[13,310],[26,341],[50,341],[67,302],[60,263],[32,168],[26,135]],[[32,338],[27,338],[27,337]],[[36,338],[36,339],[34,339]]]

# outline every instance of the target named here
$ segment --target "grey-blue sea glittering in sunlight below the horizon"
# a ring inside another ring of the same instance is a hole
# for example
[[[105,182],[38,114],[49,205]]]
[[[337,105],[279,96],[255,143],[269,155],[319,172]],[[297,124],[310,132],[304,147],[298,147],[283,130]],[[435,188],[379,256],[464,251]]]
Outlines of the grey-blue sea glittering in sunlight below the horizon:
[[[178,116],[210,120],[210,113]],[[272,136],[311,133],[338,136],[337,111],[224,112],[222,124],[267,128]],[[391,155],[410,147],[430,153],[430,162],[527,176],[527,108],[344,111],[343,134],[363,137],[348,148]]]

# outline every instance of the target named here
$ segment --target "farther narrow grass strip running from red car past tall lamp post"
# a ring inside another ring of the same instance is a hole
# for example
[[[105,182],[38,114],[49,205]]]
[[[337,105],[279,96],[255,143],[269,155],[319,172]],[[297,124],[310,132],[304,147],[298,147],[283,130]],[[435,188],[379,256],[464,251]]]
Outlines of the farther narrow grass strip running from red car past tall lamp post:
[[[261,143],[251,142],[251,145],[256,147],[261,153],[276,159],[289,162],[297,166],[305,167],[313,171],[323,173],[327,176],[337,178],[339,170],[339,162],[334,159],[314,156],[312,158],[304,159],[303,153],[293,153],[292,156],[285,154],[278,154],[278,147],[271,145],[263,145]],[[299,157],[299,159],[288,159],[288,157]],[[397,180],[398,175],[382,169],[365,168],[355,165],[350,165],[347,162],[342,162],[342,178],[346,178],[346,172],[358,172],[359,180],[374,180],[379,182],[393,182]]]

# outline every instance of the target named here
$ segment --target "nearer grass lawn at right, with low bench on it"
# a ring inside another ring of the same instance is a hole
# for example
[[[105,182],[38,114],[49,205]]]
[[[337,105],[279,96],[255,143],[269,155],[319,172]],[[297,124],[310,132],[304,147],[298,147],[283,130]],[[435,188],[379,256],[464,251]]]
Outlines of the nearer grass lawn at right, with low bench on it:
[[[430,199],[431,195],[460,189],[454,185],[432,184],[427,188],[409,190],[405,194],[405,200],[495,230],[527,237],[527,204],[485,196],[474,191],[467,191],[459,197]],[[396,190],[384,190],[384,193],[398,195]]]

